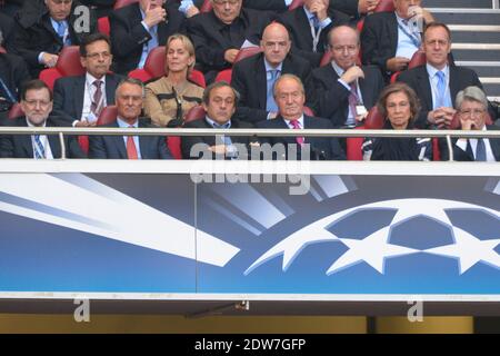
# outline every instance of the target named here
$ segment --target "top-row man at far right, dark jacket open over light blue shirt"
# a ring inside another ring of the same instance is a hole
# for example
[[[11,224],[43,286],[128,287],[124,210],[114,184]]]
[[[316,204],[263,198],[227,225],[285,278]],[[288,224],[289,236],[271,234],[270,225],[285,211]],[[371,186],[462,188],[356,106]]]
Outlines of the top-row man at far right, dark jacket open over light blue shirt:
[[[394,0],[396,11],[366,18],[361,32],[363,65],[378,66],[387,79],[408,67],[420,48],[423,23],[433,21],[432,14],[420,4],[421,0]]]

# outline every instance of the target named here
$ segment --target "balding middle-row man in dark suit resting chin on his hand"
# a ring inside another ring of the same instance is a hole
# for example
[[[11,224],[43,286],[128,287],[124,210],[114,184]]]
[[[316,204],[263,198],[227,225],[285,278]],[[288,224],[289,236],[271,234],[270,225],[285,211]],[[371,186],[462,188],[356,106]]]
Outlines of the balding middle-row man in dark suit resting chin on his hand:
[[[356,65],[359,33],[340,26],[329,33],[331,65],[312,71],[318,116],[329,118],[333,127],[354,127],[362,122],[379,98],[384,82],[376,66]]]

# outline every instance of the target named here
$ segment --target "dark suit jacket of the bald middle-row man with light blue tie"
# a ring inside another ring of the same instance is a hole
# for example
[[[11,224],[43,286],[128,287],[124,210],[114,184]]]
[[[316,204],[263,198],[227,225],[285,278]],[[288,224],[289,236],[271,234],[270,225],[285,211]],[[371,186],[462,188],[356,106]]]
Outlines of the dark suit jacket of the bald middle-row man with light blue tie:
[[[287,56],[281,75],[292,73],[301,78],[306,87],[308,106],[313,105],[311,66],[299,56]],[[257,122],[267,119],[267,73],[264,55],[246,58],[232,67],[231,86],[240,93],[238,117],[246,121]],[[309,100],[311,99],[311,100]]]

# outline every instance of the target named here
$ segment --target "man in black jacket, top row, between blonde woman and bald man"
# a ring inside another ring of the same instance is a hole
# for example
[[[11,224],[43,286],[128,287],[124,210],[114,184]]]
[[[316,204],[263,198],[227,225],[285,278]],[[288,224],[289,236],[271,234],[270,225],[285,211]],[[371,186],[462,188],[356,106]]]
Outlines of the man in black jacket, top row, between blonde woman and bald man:
[[[188,32],[197,55],[197,68],[206,73],[208,83],[218,71],[230,68],[241,46],[258,44],[271,14],[242,9],[242,0],[213,0],[210,12],[188,19]]]

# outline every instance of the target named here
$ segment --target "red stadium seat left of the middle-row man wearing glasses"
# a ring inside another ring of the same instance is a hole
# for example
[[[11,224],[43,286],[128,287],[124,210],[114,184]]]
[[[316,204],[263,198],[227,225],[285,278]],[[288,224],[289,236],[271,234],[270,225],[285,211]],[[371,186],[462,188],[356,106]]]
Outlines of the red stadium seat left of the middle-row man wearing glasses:
[[[64,47],[59,53],[58,62],[54,68],[43,69],[40,72],[40,79],[44,81],[49,88],[53,89],[56,79],[69,76],[81,76],[86,72],[80,63],[80,49],[78,46]]]

